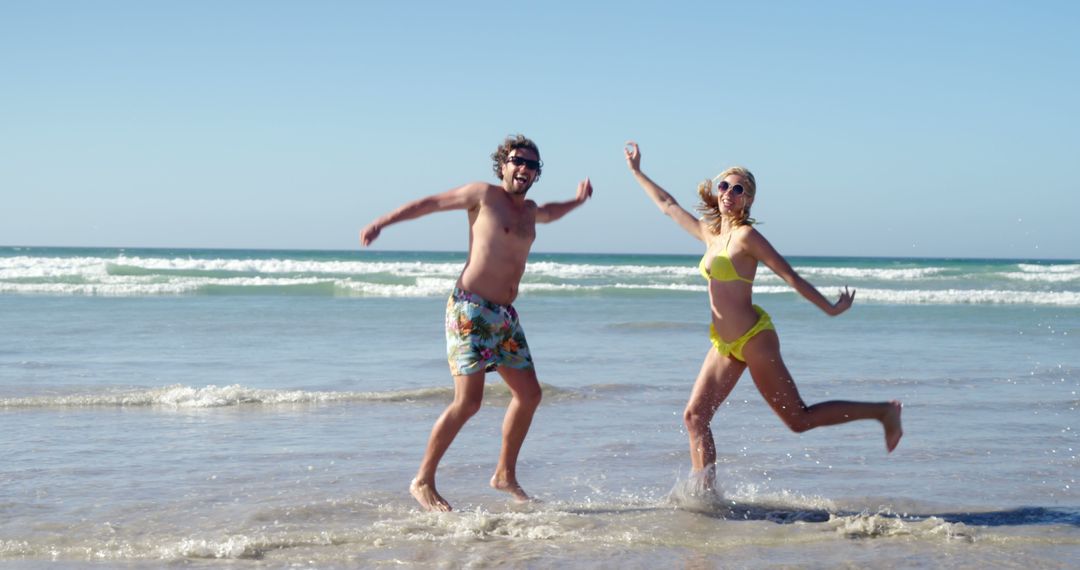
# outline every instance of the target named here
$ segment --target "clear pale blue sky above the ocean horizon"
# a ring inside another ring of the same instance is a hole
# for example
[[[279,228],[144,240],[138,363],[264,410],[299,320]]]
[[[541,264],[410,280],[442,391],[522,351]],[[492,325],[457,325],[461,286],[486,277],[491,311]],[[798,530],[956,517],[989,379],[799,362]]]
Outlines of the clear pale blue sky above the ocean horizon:
[[[462,5],[464,4],[464,5]],[[584,207],[535,250],[696,253],[725,166],[786,255],[1080,258],[1080,3],[0,3],[0,244],[359,247],[407,200],[492,181]],[[379,249],[463,249],[465,218]]]

